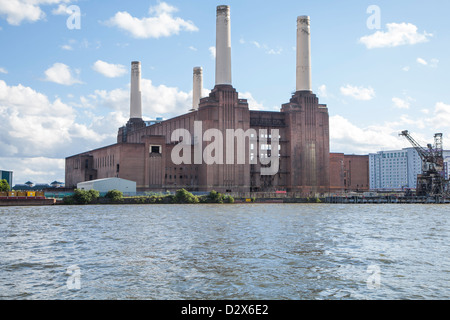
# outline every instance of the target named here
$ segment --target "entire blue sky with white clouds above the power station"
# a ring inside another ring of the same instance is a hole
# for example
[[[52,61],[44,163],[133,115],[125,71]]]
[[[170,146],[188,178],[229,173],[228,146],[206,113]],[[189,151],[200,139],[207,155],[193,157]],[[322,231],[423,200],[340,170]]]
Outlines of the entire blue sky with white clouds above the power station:
[[[214,87],[222,4],[231,7],[233,86],[252,109],[289,101],[296,18],[309,15],[313,89],[329,108],[332,152],[409,147],[398,137],[405,129],[424,145],[436,132],[450,141],[446,0],[0,0],[0,169],[15,183],[63,181],[65,157],[113,144],[129,116],[134,60],[145,119],[187,112],[195,66],[205,91]],[[67,25],[74,8],[79,29]]]

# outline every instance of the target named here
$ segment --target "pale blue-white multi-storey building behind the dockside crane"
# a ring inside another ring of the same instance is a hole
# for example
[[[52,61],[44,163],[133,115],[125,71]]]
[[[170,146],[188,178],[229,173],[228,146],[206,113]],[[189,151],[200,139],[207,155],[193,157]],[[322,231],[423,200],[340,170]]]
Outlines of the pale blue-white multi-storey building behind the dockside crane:
[[[444,151],[445,175],[448,179],[450,151]],[[422,173],[422,159],[414,148],[380,151],[369,155],[370,189],[401,191],[417,187]]]

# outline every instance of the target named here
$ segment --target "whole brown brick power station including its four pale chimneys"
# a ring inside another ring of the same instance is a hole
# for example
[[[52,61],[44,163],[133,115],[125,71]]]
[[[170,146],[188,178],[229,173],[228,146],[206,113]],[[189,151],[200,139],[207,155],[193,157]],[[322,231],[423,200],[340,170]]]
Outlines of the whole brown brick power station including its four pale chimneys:
[[[138,191],[329,192],[329,116],[312,92],[309,17],[297,19],[296,92],[279,112],[249,110],[232,85],[228,6],[217,7],[215,87],[202,97],[194,68],[188,113],[145,122],[140,62],[131,70],[130,119],[117,143],[66,158],[66,187],[116,177]]]

